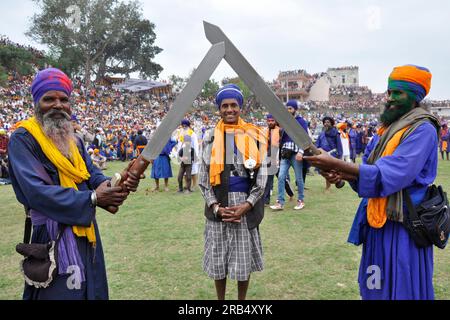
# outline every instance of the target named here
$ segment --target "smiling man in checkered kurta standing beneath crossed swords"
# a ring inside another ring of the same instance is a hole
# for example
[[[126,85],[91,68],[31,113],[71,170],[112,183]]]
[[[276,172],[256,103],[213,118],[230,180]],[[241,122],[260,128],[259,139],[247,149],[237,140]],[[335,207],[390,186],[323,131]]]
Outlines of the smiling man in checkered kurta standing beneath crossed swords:
[[[199,187],[205,199],[203,270],[225,299],[227,276],[246,298],[250,275],[262,271],[259,224],[264,217],[267,139],[240,117],[244,96],[235,84],[216,93],[221,120],[205,132]]]

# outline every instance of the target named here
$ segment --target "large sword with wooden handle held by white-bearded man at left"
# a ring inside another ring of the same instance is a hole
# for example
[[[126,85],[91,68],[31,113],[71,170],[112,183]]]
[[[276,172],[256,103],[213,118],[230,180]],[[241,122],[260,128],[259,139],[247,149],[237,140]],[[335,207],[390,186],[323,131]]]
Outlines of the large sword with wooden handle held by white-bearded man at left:
[[[166,114],[160,125],[150,138],[150,141],[142,150],[139,157],[128,169],[135,176],[140,177],[145,172],[150,162],[159,156],[164,146],[167,144],[167,139],[172,135],[172,132],[180,125],[181,120],[187,113],[192,102],[197,98],[199,92],[202,90],[205,82],[211,77],[214,70],[216,70],[220,61],[225,55],[225,44],[223,42],[214,43],[209,49],[198,68],[195,69],[186,86],[175,99],[170,111]],[[115,174],[118,183],[112,182],[114,185],[123,185],[127,176]],[[111,213],[116,213],[118,207],[110,206],[106,208]]]

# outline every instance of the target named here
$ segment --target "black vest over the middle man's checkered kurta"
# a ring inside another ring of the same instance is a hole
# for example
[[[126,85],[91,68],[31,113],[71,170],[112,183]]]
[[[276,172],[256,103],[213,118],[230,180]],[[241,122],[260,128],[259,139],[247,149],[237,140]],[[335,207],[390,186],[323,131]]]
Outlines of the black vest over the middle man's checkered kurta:
[[[212,141],[210,142],[212,143]],[[209,172],[209,170],[207,171]],[[220,185],[214,186],[213,191],[216,195],[217,201],[220,203],[221,207],[228,206],[228,192],[229,192],[229,181],[230,181],[230,173],[231,173],[231,165],[225,164],[223,172],[220,174]],[[255,170],[255,177],[257,176],[258,171]],[[252,188],[252,184],[250,184],[250,190]],[[250,191],[249,190],[249,191]],[[255,206],[252,207],[246,214],[247,219],[247,227],[248,229],[254,229],[259,226],[262,219],[264,218],[264,197],[261,197],[256,203]],[[213,207],[213,206],[212,206]],[[221,218],[214,217],[213,208],[208,207],[205,203],[205,217],[208,220],[220,222]]]

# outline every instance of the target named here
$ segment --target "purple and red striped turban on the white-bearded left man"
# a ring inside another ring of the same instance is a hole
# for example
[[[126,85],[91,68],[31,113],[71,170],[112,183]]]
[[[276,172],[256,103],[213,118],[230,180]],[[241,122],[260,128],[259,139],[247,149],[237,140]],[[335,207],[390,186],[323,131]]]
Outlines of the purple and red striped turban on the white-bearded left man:
[[[48,91],[62,91],[70,97],[73,90],[72,81],[59,69],[48,68],[39,71],[31,84],[31,94],[36,106]]]

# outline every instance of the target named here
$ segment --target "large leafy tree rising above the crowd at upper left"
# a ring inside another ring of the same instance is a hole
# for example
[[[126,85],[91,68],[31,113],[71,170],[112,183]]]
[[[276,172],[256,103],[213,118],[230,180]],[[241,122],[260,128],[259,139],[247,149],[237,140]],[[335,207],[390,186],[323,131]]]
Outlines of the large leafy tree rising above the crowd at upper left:
[[[129,76],[139,72],[156,78],[162,67],[152,59],[162,51],[154,46],[155,25],[143,18],[138,1],[33,0],[40,12],[31,18],[27,35],[46,44],[71,72]]]

